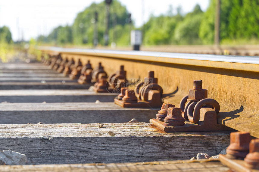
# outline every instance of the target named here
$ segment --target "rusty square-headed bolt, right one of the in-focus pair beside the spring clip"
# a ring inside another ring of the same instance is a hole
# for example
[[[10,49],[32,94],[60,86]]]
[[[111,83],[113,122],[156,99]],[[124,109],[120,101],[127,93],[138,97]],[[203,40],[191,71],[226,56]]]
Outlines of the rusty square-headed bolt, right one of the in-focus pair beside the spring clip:
[[[185,119],[182,117],[181,108],[168,108],[167,116],[164,118],[166,126],[183,126]]]

